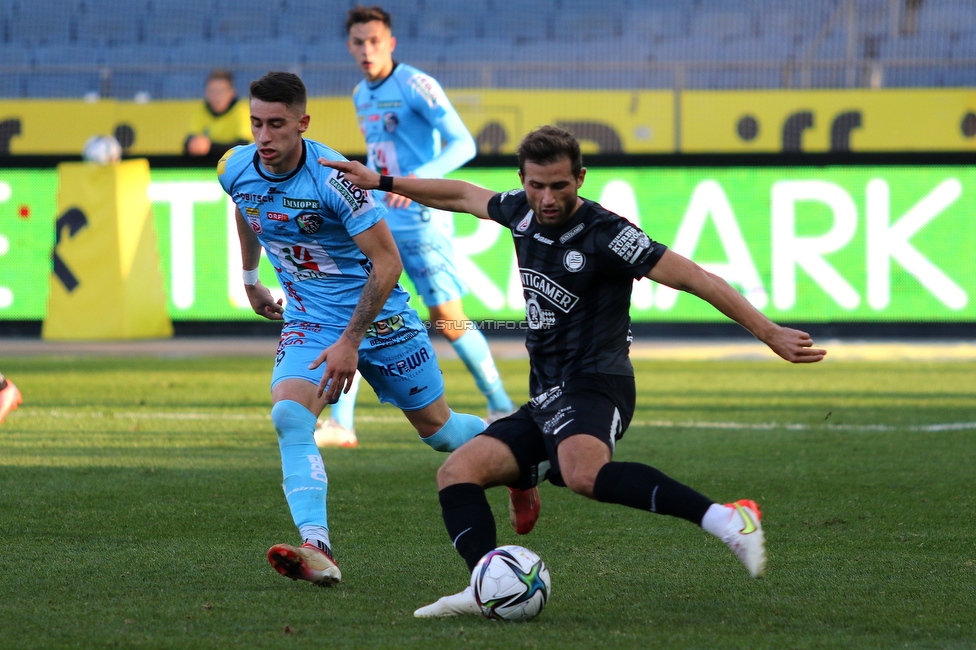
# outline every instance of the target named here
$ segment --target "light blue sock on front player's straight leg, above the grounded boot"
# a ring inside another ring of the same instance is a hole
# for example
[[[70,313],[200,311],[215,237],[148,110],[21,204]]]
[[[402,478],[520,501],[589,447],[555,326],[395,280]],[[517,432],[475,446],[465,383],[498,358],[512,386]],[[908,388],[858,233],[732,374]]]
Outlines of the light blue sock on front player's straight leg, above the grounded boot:
[[[281,449],[281,487],[295,525],[299,530],[311,526],[328,530],[325,496],[329,478],[315,446],[315,416],[298,402],[286,399],[271,409],[271,421]]]

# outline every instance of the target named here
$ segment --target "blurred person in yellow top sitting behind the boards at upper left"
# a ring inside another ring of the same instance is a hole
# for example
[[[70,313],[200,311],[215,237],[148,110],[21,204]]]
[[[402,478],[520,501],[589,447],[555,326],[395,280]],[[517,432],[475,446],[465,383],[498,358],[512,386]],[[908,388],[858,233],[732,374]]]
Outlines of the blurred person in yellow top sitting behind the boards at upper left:
[[[190,123],[190,134],[183,143],[188,156],[219,158],[231,147],[251,142],[251,123],[246,102],[234,90],[230,70],[216,69],[207,76],[204,101]]]

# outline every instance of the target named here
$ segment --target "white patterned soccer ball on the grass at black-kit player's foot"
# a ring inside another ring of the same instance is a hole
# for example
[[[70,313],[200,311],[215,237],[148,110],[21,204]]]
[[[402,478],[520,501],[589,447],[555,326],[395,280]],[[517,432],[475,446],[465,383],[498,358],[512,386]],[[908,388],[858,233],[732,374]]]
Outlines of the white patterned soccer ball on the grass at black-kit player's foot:
[[[552,582],[538,555],[521,546],[499,546],[478,561],[471,587],[487,618],[527,621],[546,606]]]

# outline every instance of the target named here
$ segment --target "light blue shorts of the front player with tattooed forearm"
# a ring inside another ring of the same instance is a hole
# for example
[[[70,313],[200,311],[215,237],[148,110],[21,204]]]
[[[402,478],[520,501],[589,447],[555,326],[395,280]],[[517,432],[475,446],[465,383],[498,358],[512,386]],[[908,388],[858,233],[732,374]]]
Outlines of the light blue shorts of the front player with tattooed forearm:
[[[342,334],[344,327],[319,323],[285,323],[278,341],[271,388],[285,379],[318,384],[325,365],[308,364]],[[444,377],[437,365],[427,329],[413,309],[373,323],[359,346],[359,372],[381,402],[402,411],[416,411],[444,394]]]

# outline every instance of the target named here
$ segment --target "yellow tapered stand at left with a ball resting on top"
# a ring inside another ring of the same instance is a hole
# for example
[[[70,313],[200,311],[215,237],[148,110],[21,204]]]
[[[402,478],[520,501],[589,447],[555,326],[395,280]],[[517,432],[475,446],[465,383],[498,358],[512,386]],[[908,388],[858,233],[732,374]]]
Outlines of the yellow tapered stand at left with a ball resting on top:
[[[166,338],[145,159],[63,163],[47,318],[51,340]]]

